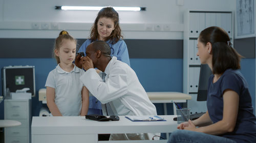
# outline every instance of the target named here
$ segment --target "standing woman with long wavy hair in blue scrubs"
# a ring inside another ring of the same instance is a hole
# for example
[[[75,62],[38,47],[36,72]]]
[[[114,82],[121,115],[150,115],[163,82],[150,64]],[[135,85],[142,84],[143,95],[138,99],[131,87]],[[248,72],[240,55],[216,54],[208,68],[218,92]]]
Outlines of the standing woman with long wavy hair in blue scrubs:
[[[96,17],[91,29],[90,38],[84,42],[78,52],[86,52],[87,46],[97,40],[106,41],[111,48],[111,56],[116,56],[117,60],[130,66],[129,54],[125,42],[122,40],[121,28],[119,26],[119,15],[111,7],[102,8]],[[79,59],[80,56],[77,56]],[[79,68],[81,64],[75,62]],[[98,71],[99,72],[99,71]],[[101,104],[98,100],[90,96],[88,114],[101,114]]]

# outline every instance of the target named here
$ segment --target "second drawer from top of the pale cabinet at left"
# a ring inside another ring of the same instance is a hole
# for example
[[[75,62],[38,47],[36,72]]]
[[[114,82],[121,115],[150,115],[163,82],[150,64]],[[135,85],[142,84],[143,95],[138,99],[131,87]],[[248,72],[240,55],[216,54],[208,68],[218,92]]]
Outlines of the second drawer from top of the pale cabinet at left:
[[[26,110],[6,110],[5,119],[27,119],[28,111]]]

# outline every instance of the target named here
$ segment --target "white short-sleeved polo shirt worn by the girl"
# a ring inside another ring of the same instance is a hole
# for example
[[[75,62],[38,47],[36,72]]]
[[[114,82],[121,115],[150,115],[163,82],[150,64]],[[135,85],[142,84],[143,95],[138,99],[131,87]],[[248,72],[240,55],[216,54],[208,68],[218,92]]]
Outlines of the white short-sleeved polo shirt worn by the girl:
[[[58,66],[47,77],[45,87],[55,89],[55,104],[62,116],[79,116],[82,107],[81,91],[84,86],[79,80],[84,71],[74,65],[71,72]]]

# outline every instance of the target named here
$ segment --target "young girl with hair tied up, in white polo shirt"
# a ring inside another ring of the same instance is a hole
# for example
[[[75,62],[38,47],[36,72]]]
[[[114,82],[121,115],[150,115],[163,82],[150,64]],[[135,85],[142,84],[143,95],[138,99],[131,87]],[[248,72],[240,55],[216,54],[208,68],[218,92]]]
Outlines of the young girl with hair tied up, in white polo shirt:
[[[61,31],[54,46],[57,67],[46,80],[47,106],[52,116],[85,116],[89,107],[89,91],[79,77],[84,71],[73,64],[76,39]]]

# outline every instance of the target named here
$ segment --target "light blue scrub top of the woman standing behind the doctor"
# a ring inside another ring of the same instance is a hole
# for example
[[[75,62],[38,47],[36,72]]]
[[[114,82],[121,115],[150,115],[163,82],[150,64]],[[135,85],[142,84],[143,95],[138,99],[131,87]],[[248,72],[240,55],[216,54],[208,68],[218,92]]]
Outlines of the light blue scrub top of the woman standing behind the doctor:
[[[86,54],[86,48],[89,44],[91,44],[92,41],[90,39],[87,39],[86,42],[84,42],[81,47],[79,48],[78,52],[84,52]],[[122,61],[130,66],[130,59],[129,59],[129,53],[127,46],[123,40],[119,40],[117,43],[112,44],[112,42],[106,41],[110,45],[111,48],[111,56],[116,56],[117,60]],[[91,93],[90,93],[91,94]],[[94,97],[90,96],[90,103],[89,103],[89,109],[101,109],[101,103]],[[90,113],[98,113],[98,112],[90,112]]]

